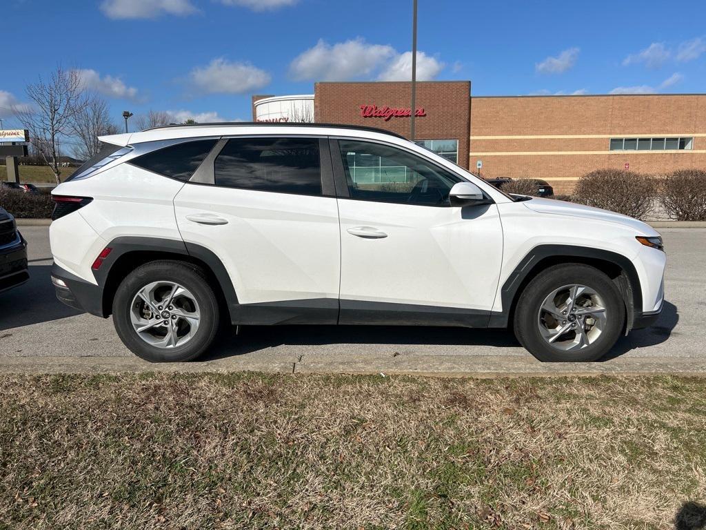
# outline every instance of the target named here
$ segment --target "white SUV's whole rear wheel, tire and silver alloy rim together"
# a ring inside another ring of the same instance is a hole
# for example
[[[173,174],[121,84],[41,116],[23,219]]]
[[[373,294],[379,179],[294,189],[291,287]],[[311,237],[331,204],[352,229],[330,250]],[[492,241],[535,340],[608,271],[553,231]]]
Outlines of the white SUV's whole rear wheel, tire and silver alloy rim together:
[[[152,363],[193,360],[213,343],[218,303],[206,276],[181,261],[152,261],[120,283],[113,322],[121,340]]]

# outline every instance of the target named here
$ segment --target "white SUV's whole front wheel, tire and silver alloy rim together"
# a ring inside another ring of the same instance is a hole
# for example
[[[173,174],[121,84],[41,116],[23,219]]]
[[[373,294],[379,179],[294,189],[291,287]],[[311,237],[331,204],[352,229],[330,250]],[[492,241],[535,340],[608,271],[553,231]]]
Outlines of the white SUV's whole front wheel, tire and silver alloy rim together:
[[[542,271],[527,285],[515,310],[515,335],[542,361],[592,361],[615,345],[625,325],[618,288],[582,264]]]

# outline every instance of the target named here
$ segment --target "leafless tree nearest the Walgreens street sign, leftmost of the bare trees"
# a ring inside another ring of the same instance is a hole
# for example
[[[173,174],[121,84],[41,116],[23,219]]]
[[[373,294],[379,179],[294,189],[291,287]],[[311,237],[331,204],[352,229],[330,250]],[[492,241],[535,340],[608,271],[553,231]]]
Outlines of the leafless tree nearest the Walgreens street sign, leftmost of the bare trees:
[[[46,82],[40,77],[37,83],[28,85],[26,93],[30,105],[13,107],[13,112],[39,143],[44,163],[52,168],[59,184],[59,141],[61,136],[71,134],[73,119],[85,105],[80,76],[76,70],[59,66]]]

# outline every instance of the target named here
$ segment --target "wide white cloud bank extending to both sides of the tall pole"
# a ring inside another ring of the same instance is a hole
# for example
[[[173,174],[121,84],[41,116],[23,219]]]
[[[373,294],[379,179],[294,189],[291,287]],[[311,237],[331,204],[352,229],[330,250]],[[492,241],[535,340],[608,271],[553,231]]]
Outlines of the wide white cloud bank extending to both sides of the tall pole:
[[[444,64],[417,52],[417,79],[436,78]],[[361,37],[334,45],[319,40],[289,64],[294,81],[349,81],[378,78],[400,81],[412,78],[412,52],[399,53],[390,45],[369,44]]]

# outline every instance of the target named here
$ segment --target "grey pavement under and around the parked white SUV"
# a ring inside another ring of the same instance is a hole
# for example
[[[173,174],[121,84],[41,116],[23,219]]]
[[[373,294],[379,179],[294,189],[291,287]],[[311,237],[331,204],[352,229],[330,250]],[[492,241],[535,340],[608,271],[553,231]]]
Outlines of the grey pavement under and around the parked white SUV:
[[[29,244],[31,279],[0,295],[0,357],[4,363],[62,358],[66,363],[88,365],[91,361],[86,357],[100,358],[94,362],[103,365],[119,358],[133,362],[111,319],[80,314],[54,298],[49,281],[49,228],[25,226],[21,231]],[[650,363],[706,363],[706,327],[702,325],[706,229],[664,229],[662,235],[669,254],[664,312],[652,328],[622,338],[606,362],[599,363],[604,367],[644,371],[640,367]],[[510,371],[522,371],[525,366],[537,370],[539,365],[507,331],[388,326],[249,327],[238,336],[222,338],[206,360],[282,372],[297,367],[299,371],[334,372],[395,371],[398,367],[403,372],[450,373],[486,362],[500,371],[503,366]]]

